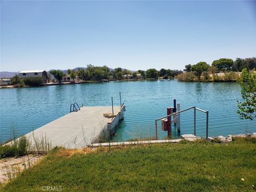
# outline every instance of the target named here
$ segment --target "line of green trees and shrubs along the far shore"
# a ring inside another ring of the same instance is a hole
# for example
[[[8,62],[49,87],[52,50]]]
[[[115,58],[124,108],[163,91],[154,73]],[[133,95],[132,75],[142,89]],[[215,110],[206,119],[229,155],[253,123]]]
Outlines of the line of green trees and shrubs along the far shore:
[[[236,82],[241,71],[247,69],[255,71],[256,58],[237,58],[232,59],[221,58],[214,60],[210,66],[208,63],[201,61],[195,65],[186,65],[185,69],[160,69],[150,68],[147,70],[131,71],[120,67],[110,70],[109,67],[87,65],[86,68],[68,69],[67,74],[62,70],[50,70],[49,82],[46,83],[43,77],[26,77],[20,78],[15,75],[11,78],[11,87],[23,86],[42,86],[69,83],[94,83],[107,81],[127,81],[136,79],[167,79],[178,78],[183,82]],[[69,82],[63,82],[63,77],[69,78]],[[9,86],[10,87],[10,86]]]

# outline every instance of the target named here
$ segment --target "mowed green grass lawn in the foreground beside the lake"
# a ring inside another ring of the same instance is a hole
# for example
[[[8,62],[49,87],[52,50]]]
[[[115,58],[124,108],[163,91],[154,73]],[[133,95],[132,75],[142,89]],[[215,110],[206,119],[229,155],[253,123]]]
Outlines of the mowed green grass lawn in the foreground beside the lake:
[[[256,191],[256,139],[107,147],[74,155],[63,150],[54,149],[2,191]]]

